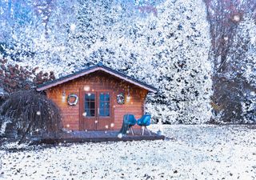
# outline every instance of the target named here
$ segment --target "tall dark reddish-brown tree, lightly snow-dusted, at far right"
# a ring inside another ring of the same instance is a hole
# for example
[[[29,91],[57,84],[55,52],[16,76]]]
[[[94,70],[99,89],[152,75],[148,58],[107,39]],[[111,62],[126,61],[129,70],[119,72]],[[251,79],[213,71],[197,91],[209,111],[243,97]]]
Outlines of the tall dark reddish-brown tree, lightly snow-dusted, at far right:
[[[241,103],[246,101],[245,92],[251,86],[245,78],[245,70],[246,66],[253,65],[247,55],[253,53],[253,50],[249,50],[250,38],[245,31],[254,30],[254,27],[249,27],[245,22],[248,22],[246,19],[250,16],[250,23],[254,23],[256,1],[204,1],[210,22],[210,59],[214,64],[213,120],[247,122],[244,121]],[[253,90],[251,87],[249,89]],[[251,90],[246,94],[250,94]]]

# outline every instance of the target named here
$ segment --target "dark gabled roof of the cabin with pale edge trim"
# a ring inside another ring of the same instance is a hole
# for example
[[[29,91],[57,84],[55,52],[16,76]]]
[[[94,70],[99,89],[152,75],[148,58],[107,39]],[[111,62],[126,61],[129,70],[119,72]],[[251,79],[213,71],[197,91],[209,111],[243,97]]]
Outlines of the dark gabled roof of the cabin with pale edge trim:
[[[74,80],[75,78],[82,77],[86,74],[91,74],[91,73],[93,73],[95,71],[98,71],[98,70],[101,70],[101,71],[103,71],[107,74],[114,75],[117,78],[120,78],[120,79],[122,79],[126,82],[130,82],[131,84],[134,84],[136,86],[140,86],[143,89],[149,90],[150,92],[153,92],[153,93],[157,92],[157,89],[154,88],[153,86],[150,86],[150,85],[146,84],[145,82],[138,81],[138,79],[132,78],[132,77],[126,75],[126,74],[122,74],[122,73],[118,72],[117,70],[111,69],[110,67],[104,66],[104,65],[102,65],[101,62],[99,62],[95,66],[91,66],[91,67],[88,67],[84,70],[79,70],[77,72],[74,72],[73,74],[68,74],[66,76],[55,79],[53,81],[43,83],[42,85],[38,85],[36,87],[36,90],[38,90],[38,91],[46,90],[46,89],[49,89],[53,86],[60,85],[64,82],[69,82],[71,80]]]

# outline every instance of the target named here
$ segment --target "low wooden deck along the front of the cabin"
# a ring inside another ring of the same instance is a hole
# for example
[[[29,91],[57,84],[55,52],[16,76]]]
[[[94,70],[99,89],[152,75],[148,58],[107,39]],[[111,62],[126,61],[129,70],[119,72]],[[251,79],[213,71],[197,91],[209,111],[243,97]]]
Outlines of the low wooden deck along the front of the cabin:
[[[32,144],[56,144],[70,142],[126,142],[142,140],[164,140],[165,136],[153,132],[141,134],[140,130],[135,130],[133,134],[118,135],[118,131],[72,131],[61,134],[51,134],[32,142]]]

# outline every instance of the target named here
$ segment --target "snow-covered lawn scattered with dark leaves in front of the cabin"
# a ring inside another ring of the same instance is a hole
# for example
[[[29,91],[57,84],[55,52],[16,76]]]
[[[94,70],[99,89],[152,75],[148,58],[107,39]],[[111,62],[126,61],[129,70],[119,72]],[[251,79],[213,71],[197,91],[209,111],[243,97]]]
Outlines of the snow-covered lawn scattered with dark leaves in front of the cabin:
[[[2,146],[0,179],[255,179],[256,129],[163,130],[165,141],[30,146],[15,152]]]

